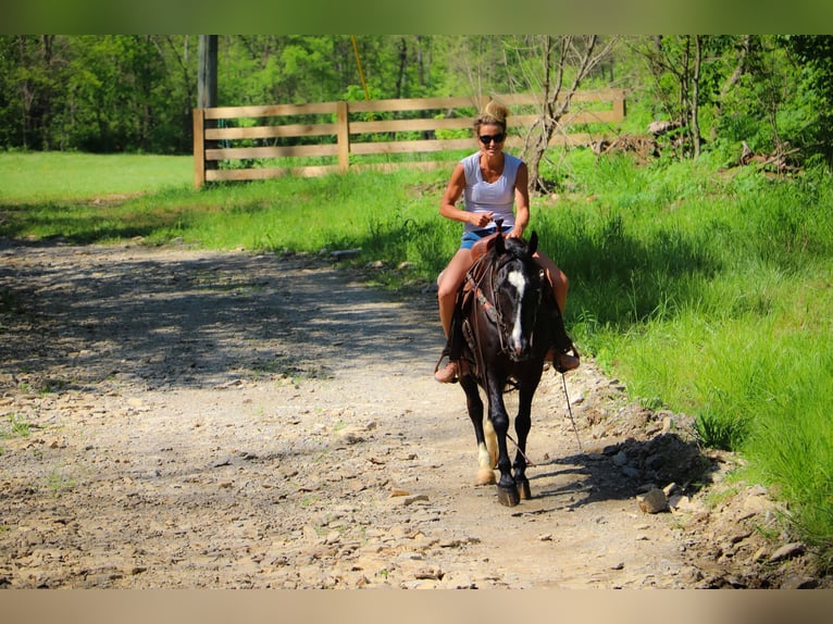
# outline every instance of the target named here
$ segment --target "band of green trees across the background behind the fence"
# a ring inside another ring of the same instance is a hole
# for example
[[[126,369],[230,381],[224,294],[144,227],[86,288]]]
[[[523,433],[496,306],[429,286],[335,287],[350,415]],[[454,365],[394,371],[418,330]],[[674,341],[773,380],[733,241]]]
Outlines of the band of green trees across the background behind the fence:
[[[581,78],[627,89],[627,118],[611,134],[677,122],[662,137],[677,157],[698,155],[701,145],[736,160],[746,141],[796,162],[833,158],[830,36],[632,36],[580,75],[565,61],[581,58],[588,40],[227,35],[219,39],[219,104],[359,99],[365,86],[373,99],[480,97],[565,89]],[[617,40],[602,37],[597,48]],[[197,75],[194,35],[0,35],[0,147],[189,153]]]

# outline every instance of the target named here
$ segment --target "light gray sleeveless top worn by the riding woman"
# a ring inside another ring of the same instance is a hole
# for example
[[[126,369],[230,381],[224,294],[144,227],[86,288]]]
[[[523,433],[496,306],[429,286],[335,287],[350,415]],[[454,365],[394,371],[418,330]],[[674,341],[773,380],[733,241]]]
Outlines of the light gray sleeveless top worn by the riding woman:
[[[494,212],[493,219],[502,219],[503,227],[514,225],[514,182],[518,177],[518,167],[521,159],[503,153],[503,173],[494,183],[483,179],[480,164],[480,152],[462,159],[463,172],[465,173],[465,190],[463,200],[468,212]],[[476,227],[471,223],[465,224],[465,232],[495,227],[494,221],[486,227]]]

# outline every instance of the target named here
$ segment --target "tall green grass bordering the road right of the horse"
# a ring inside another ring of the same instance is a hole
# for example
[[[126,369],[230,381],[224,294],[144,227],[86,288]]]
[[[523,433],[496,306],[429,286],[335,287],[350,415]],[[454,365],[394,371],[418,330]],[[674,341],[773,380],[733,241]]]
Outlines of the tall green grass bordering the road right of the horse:
[[[743,451],[831,552],[830,174],[587,164],[550,217],[580,344],[635,397],[695,414],[705,444]]]

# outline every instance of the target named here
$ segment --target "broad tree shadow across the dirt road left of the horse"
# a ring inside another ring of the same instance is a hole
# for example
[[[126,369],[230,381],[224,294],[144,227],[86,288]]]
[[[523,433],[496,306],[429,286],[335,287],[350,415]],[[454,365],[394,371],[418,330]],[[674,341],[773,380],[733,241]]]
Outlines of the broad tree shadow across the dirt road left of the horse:
[[[43,389],[327,376],[442,347],[433,295],[414,308],[319,257],[7,241],[0,258],[0,371]]]

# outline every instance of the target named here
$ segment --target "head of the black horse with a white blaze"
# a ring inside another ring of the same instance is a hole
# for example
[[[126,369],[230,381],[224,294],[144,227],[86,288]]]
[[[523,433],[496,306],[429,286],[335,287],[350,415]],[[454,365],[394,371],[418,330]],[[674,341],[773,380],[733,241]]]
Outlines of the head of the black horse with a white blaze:
[[[540,270],[533,259],[537,247],[535,232],[529,242],[501,235],[495,241],[494,292],[499,311],[498,325],[506,352],[515,362],[532,354],[532,333],[542,297]]]

